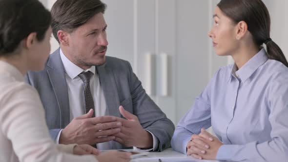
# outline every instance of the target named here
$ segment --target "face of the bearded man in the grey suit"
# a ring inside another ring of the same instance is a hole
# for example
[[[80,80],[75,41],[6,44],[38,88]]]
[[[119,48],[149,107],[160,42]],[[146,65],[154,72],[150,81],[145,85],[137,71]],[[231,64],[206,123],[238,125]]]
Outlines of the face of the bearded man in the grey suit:
[[[68,59],[82,69],[105,63],[108,45],[106,27],[103,14],[98,13],[70,33],[65,53]]]

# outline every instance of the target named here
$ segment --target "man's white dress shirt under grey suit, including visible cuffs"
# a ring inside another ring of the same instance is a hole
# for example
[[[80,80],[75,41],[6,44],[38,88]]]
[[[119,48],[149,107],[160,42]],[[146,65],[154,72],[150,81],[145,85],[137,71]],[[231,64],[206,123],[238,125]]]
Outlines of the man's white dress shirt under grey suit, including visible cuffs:
[[[91,71],[94,74],[94,77],[90,78],[90,91],[93,97],[94,106],[95,106],[95,116],[105,116],[106,113],[106,101],[103,93],[103,89],[100,85],[100,80],[98,73],[96,71],[95,66],[91,66],[89,69],[83,70],[81,67],[77,66],[73,62],[71,62],[60,49],[60,56],[63,62],[63,66],[65,69],[65,79],[67,82],[68,88],[68,98],[69,98],[69,106],[70,106],[70,121],[75,117],[79,117],[85,113],[85,102],[83,97],[83,81],[78,76],[83,71]],[[59,143],[59,138],[62,130],[58,133],[56,138],[56,142]],[[149,131],[148,131],[149,132]],[[155,150],[158,147],[159,141],[158,139],[149,132],[153,137],[153,148],[144,149],[142,151],[151,151]],[[108,150],[109,149],[108,142],[98,143],[97,148],[100,150]]]

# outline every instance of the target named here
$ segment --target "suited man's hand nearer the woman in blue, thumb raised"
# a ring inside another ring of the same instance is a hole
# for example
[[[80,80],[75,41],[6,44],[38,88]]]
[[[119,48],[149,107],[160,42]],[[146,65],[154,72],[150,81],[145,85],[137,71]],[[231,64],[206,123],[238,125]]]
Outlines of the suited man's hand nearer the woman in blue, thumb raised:
[[[153,137],[143,129],[138,118],[124,110],[123,106],[119,107],[120,113],[125,119],[117,118],[117,121],[122,122],[121,132],[115,134],[114,141],[119,142],[125,146],[135,146],[138,148],[152,148]]]

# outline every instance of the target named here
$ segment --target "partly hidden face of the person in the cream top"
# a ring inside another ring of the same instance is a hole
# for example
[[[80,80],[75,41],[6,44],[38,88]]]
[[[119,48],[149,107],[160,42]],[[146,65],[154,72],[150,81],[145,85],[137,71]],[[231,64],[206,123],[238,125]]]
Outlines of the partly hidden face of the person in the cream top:
[[[40,71],[44,69],[45,62],[50,54],[51,27],[45,33],[42,41],[36,41],[29,54],[28,70]]]

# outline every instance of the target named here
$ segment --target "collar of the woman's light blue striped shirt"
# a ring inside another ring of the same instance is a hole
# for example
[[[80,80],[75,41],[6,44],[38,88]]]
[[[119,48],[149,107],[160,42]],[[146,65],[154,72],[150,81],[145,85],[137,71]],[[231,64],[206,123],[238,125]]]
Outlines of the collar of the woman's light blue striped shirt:
[[[251,75],[268,60],[266,51],[262,48],[255,56],[247,61],[238,71],[236,71],[236,64],[234,63],[231,75],[237,76],[241,81],[245,82]]]

